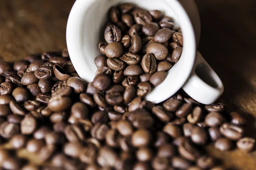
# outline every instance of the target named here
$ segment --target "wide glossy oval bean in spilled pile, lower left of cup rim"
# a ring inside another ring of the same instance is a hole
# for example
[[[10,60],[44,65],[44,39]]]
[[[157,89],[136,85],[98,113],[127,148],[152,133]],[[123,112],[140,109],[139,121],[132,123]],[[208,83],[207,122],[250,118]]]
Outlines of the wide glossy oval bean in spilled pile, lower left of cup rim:
[[[69,97],[53,97],[48,102],[48,107],[54,112],[61,112],[71,106],[71,98]]]

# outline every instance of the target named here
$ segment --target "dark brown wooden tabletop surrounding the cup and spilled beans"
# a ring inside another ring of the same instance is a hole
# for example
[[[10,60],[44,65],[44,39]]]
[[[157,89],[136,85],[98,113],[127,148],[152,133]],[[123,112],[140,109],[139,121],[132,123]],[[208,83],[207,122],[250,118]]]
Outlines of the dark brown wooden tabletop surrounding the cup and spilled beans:
[[[202,21],[199,51],[224,83],[220,100],[230,110],[246,116],[246,133],[256,138],[256,1],[195,1]],[[0,56],[6,61],[17,61],[29,53],[64,48],[67,17],[73,2],[0,0]],[[228,168],[256,169],[256,151],[224,153],[212,146],[207,150]],[[40,163],[35,158],[32,161]]]

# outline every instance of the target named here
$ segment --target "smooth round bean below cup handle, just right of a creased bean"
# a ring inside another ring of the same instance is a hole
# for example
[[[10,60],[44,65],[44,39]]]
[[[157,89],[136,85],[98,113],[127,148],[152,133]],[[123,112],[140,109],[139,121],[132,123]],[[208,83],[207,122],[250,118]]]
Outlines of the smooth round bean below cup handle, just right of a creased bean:
[[[205,123],[209,127],[217,127],[224,121],[224,117],[218,112],[211,112],[205,117]]]

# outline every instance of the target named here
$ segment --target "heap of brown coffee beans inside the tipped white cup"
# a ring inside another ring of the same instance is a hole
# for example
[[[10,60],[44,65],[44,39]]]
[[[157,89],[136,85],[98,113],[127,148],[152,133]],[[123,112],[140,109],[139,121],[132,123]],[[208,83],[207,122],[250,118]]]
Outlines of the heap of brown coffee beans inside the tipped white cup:
[[[125,88],[137,86],[137,95],[143,97],[179,61],[183,49],[180,28],[174,28],[174,20],[160,11],[127,3],[111,7],[109,21],[105,41],[99,42],[102,55],[95,58],[96,75],[113,75],[113,84]]]

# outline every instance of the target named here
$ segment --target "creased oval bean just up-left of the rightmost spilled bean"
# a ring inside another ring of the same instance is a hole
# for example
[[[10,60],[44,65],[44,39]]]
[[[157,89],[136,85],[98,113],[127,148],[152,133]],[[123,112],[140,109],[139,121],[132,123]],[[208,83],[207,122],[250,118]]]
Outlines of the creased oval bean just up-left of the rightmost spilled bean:
[[[224,135],[226,138],[236,141],[244,135],[244,128],[233,124],[224,123],[220,127],[220,132],[221,135]]]

